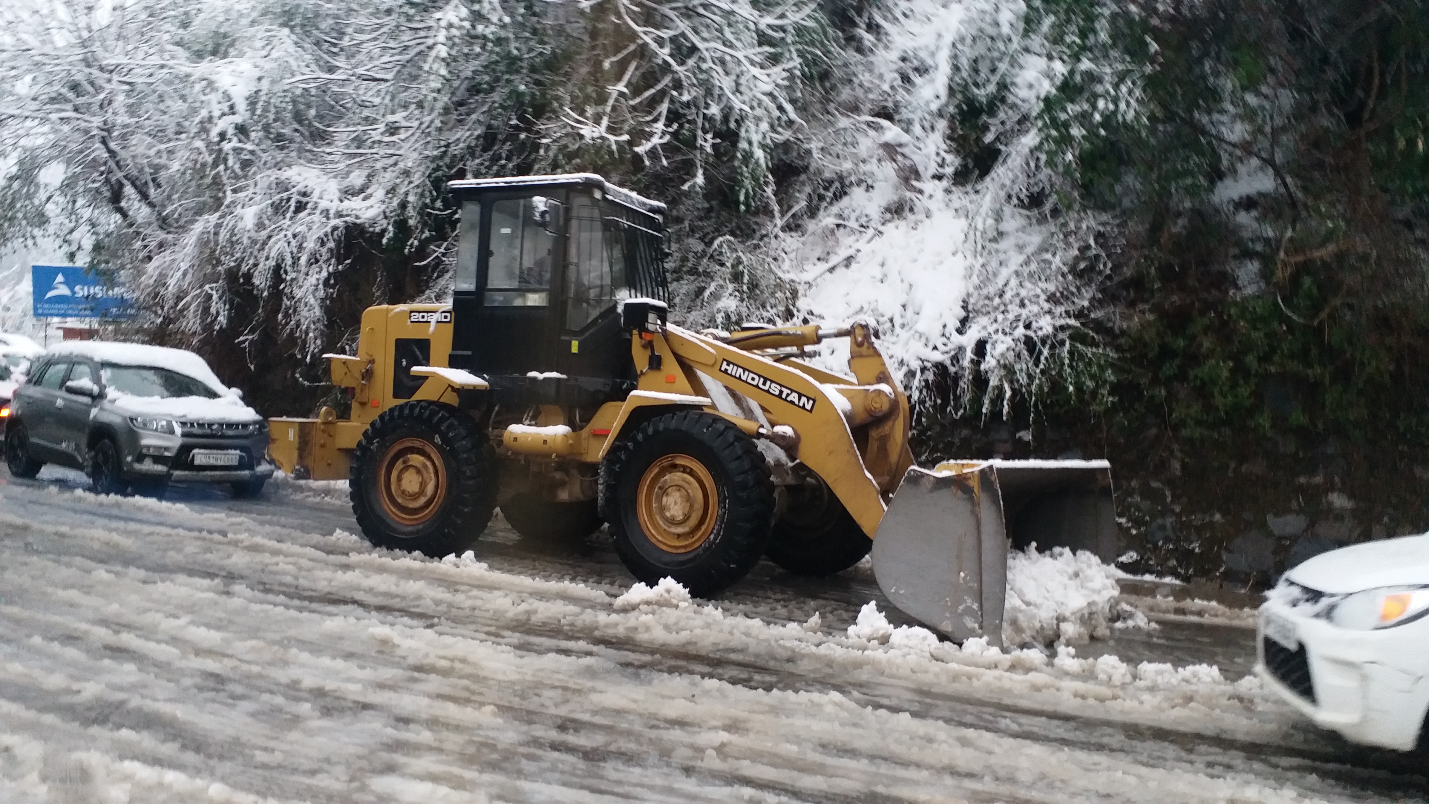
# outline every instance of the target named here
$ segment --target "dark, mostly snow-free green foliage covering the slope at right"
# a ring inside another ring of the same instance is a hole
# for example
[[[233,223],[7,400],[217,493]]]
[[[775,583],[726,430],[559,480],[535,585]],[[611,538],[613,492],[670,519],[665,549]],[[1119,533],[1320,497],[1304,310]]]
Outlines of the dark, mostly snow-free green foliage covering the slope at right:
[[[1039,7],[1092,62],[1146,66],[1139,116],[1089,116],[1105,70],[1045,110],[1059,200],[1120,222],[1107,415],[1192,442],[1429,436],[1425,4]]]

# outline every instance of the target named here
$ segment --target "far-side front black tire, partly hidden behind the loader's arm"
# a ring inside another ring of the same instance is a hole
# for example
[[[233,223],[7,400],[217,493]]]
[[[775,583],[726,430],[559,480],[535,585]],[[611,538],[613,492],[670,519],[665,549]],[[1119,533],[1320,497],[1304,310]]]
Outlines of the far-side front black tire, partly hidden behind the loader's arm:
[[[822,479],[785,488],[789,499],[769,539],[769,561],[795,575],[823,578],[873,549],[873,539]]]

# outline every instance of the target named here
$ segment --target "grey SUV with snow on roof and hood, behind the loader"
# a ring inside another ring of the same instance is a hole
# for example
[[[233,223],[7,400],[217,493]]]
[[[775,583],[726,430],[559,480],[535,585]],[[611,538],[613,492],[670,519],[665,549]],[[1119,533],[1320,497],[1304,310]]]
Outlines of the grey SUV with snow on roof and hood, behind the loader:
[[[257,496],[273,475],[267,422],[191,352],[74,342],[36,359],[6,426],[10,474],[84,471],[99,494],[161,496],[170,481]]]

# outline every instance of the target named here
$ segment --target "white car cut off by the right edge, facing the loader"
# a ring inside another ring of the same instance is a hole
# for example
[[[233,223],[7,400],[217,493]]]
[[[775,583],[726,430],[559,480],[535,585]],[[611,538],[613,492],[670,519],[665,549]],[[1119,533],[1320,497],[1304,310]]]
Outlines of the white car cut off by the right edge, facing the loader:
[[[1290,569],[1260,607],[1260,678],[1352,742],[1429,750],[1429,534]]]

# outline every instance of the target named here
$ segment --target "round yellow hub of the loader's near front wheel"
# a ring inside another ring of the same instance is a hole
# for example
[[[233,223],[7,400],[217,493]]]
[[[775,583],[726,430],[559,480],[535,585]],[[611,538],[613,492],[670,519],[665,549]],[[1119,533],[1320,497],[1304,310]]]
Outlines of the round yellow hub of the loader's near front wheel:
[[[636,491],[640,529],[666,552],[690,552],[714,532],[719,489],[714,476],[689,455],[650,464]]]

